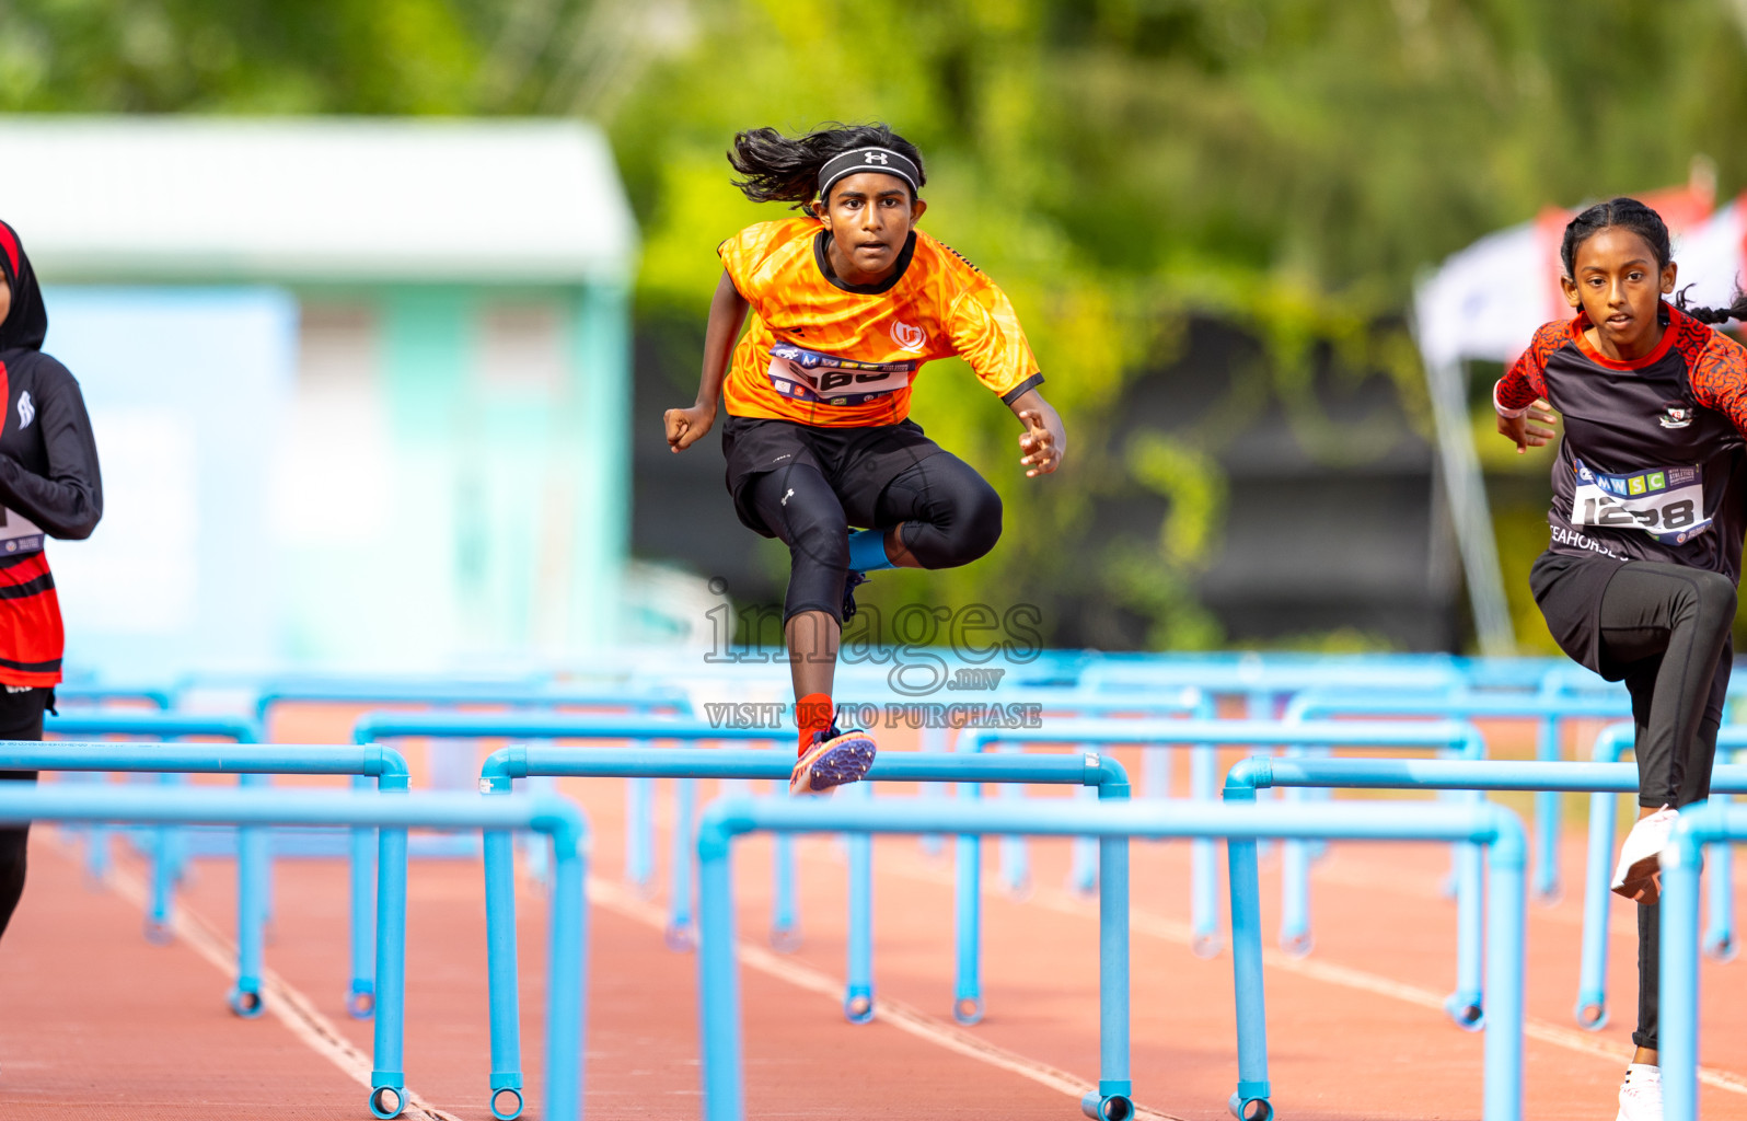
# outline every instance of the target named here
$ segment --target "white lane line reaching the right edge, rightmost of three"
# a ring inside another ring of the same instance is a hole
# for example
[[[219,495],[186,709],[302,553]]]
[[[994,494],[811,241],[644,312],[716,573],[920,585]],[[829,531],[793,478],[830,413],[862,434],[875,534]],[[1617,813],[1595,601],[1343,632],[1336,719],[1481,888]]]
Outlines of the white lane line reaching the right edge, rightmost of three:
[[[912,880],[928,880],[931,884],[952,884],[954,875],[943,868],[931,868],[928,864],[910,864],[910,861],[891,861],[896,864],[891,871],[908,877]],[[999,887],[991,885],[984,891],[985,897],[1012,901]],[[1064,891],[1055,889],[1032,889],[1029,903],[1043,906],[1045,910],[1057,911],[1062,915],[1076,915],[1081,918],[1095,918],[1097,904],[1092,901],[1078,899]],[[1151,911],[1143,911],[1139,908],[1129,910],[1129,927],[1136,932],[1158,938],[1162,941],[1176,943],[1179,946],[1188,946],[1193,943],[1190,924],[1177,922],[1176,918],[1165,918]],[[1441,994],[1429,988],[1420,988],[1419,985],[1408,985],[1405,981],[1396,981],[1392,978],[1378,976],[1375,973],[1366,973],[1364,969],[1352,969],[1349,966],[1336,966],[1328,960],[1315,960],[1309,957],[1291,957],[1282,950],[1263,946],[1261,964],[1272,969],[1281,969],[1284,973],[1296,973],[1298,976],[1312,978],[1326,985],[1340,985],[1343,988],[1357,988],[1361,992],[1377,994],[1380,997],[1391,997],[1394,1001],[1405,1001],[1419,1008],[1429,1008],[1436,1013],[1443,1013]],[[1529,1039],[1539,1039],[1541,1042],[1550,1042],[1557,1048],[1565,1048],[1567,1051],[1576,1051],[1579,1055],[1592,1055],[1595,1058],[1605,1058],[1607,1062],[1619,1063],[1625,1062],[1626,1053],[1619,1044],[1599,1039],[1578,1028],[1560,1027],[1546,1020],[1536,1020],[1529,1016],[1523,1021],[1523,1035]],[[1747,1077],[1742,1077],[1731,1070],[1719,1070],[1716,1067],[1700,1067],[1698,1081],[1705,1086],[1716,1086],[1717,1090],[1726,1090],[1731,1093],[1747,1095]]]

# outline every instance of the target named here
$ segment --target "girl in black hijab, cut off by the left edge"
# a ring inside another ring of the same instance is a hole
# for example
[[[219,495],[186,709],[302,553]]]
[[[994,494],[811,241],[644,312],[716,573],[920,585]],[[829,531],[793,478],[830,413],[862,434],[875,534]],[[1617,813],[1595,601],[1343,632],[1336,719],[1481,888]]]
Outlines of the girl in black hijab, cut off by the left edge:
[[[61,602],[42,540],[89,538],[103,517],[86,402],[66,367],[42,353],[47,332],[37,274],[0,222],[0,740],[40,740],[61,681]],[[24,892],[28,829],[0,828],[0,934]]]

